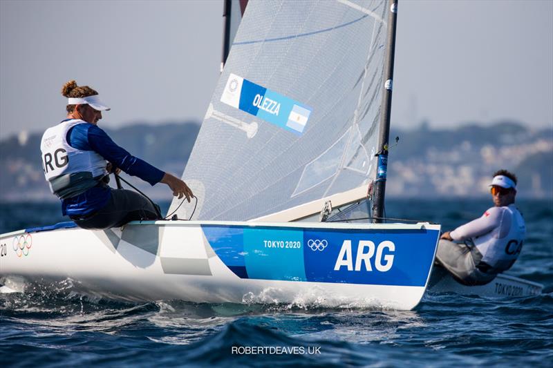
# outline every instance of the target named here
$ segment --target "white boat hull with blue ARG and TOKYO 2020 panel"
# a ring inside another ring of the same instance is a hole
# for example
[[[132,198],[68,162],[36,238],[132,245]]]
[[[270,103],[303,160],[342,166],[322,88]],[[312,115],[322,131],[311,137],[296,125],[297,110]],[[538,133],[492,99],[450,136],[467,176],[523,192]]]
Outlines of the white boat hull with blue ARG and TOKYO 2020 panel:
[[[158,221],[3,234],[0,277],[120,300],[412,309],[439,225]]]

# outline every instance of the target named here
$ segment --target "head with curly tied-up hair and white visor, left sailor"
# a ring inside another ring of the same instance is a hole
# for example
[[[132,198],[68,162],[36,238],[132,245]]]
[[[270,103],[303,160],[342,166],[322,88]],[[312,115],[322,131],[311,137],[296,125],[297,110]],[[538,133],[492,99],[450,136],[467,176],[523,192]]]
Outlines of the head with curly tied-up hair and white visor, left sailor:
[[[102,119],[102,111],[109,110],[98,98],[98,93],[88,86],[77,86],[76,81],[68,81],[62,87],[62,95],[67,97],[68,117],[81,119],[96,125]]]

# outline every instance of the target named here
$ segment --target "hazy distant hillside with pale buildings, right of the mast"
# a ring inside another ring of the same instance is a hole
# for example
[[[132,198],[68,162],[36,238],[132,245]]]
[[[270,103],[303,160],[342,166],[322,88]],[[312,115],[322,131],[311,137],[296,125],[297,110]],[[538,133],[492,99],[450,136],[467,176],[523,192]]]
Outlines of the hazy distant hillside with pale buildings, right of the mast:
[[[494,171],[518,176],[518,195],[553,197],[553,128],[530,130],[516,122],[462,124],[450,130],[391,130],[386,194],[408,197],[487,195]]]

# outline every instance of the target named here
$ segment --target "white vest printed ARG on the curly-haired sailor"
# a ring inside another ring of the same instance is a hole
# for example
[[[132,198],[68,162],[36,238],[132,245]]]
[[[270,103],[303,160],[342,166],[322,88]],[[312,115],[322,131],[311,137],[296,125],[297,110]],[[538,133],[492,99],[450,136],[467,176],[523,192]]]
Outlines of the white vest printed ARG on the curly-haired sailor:
[[[46,129],[40,143],[44,176],[50,191],[62,198],[84,193],[108,174],[104,157],[68,144],[67,132],[77,124],[88,123],[80,119],[61,122]]]

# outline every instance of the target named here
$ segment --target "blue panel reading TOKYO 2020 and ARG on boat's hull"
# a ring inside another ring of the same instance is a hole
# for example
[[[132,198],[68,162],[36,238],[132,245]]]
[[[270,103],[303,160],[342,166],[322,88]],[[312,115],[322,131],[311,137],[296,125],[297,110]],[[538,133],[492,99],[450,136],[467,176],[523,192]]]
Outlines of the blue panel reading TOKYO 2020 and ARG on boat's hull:
[[[239,278],[418,287],[426,284],[439,233],[216,225],[202,229]]]

